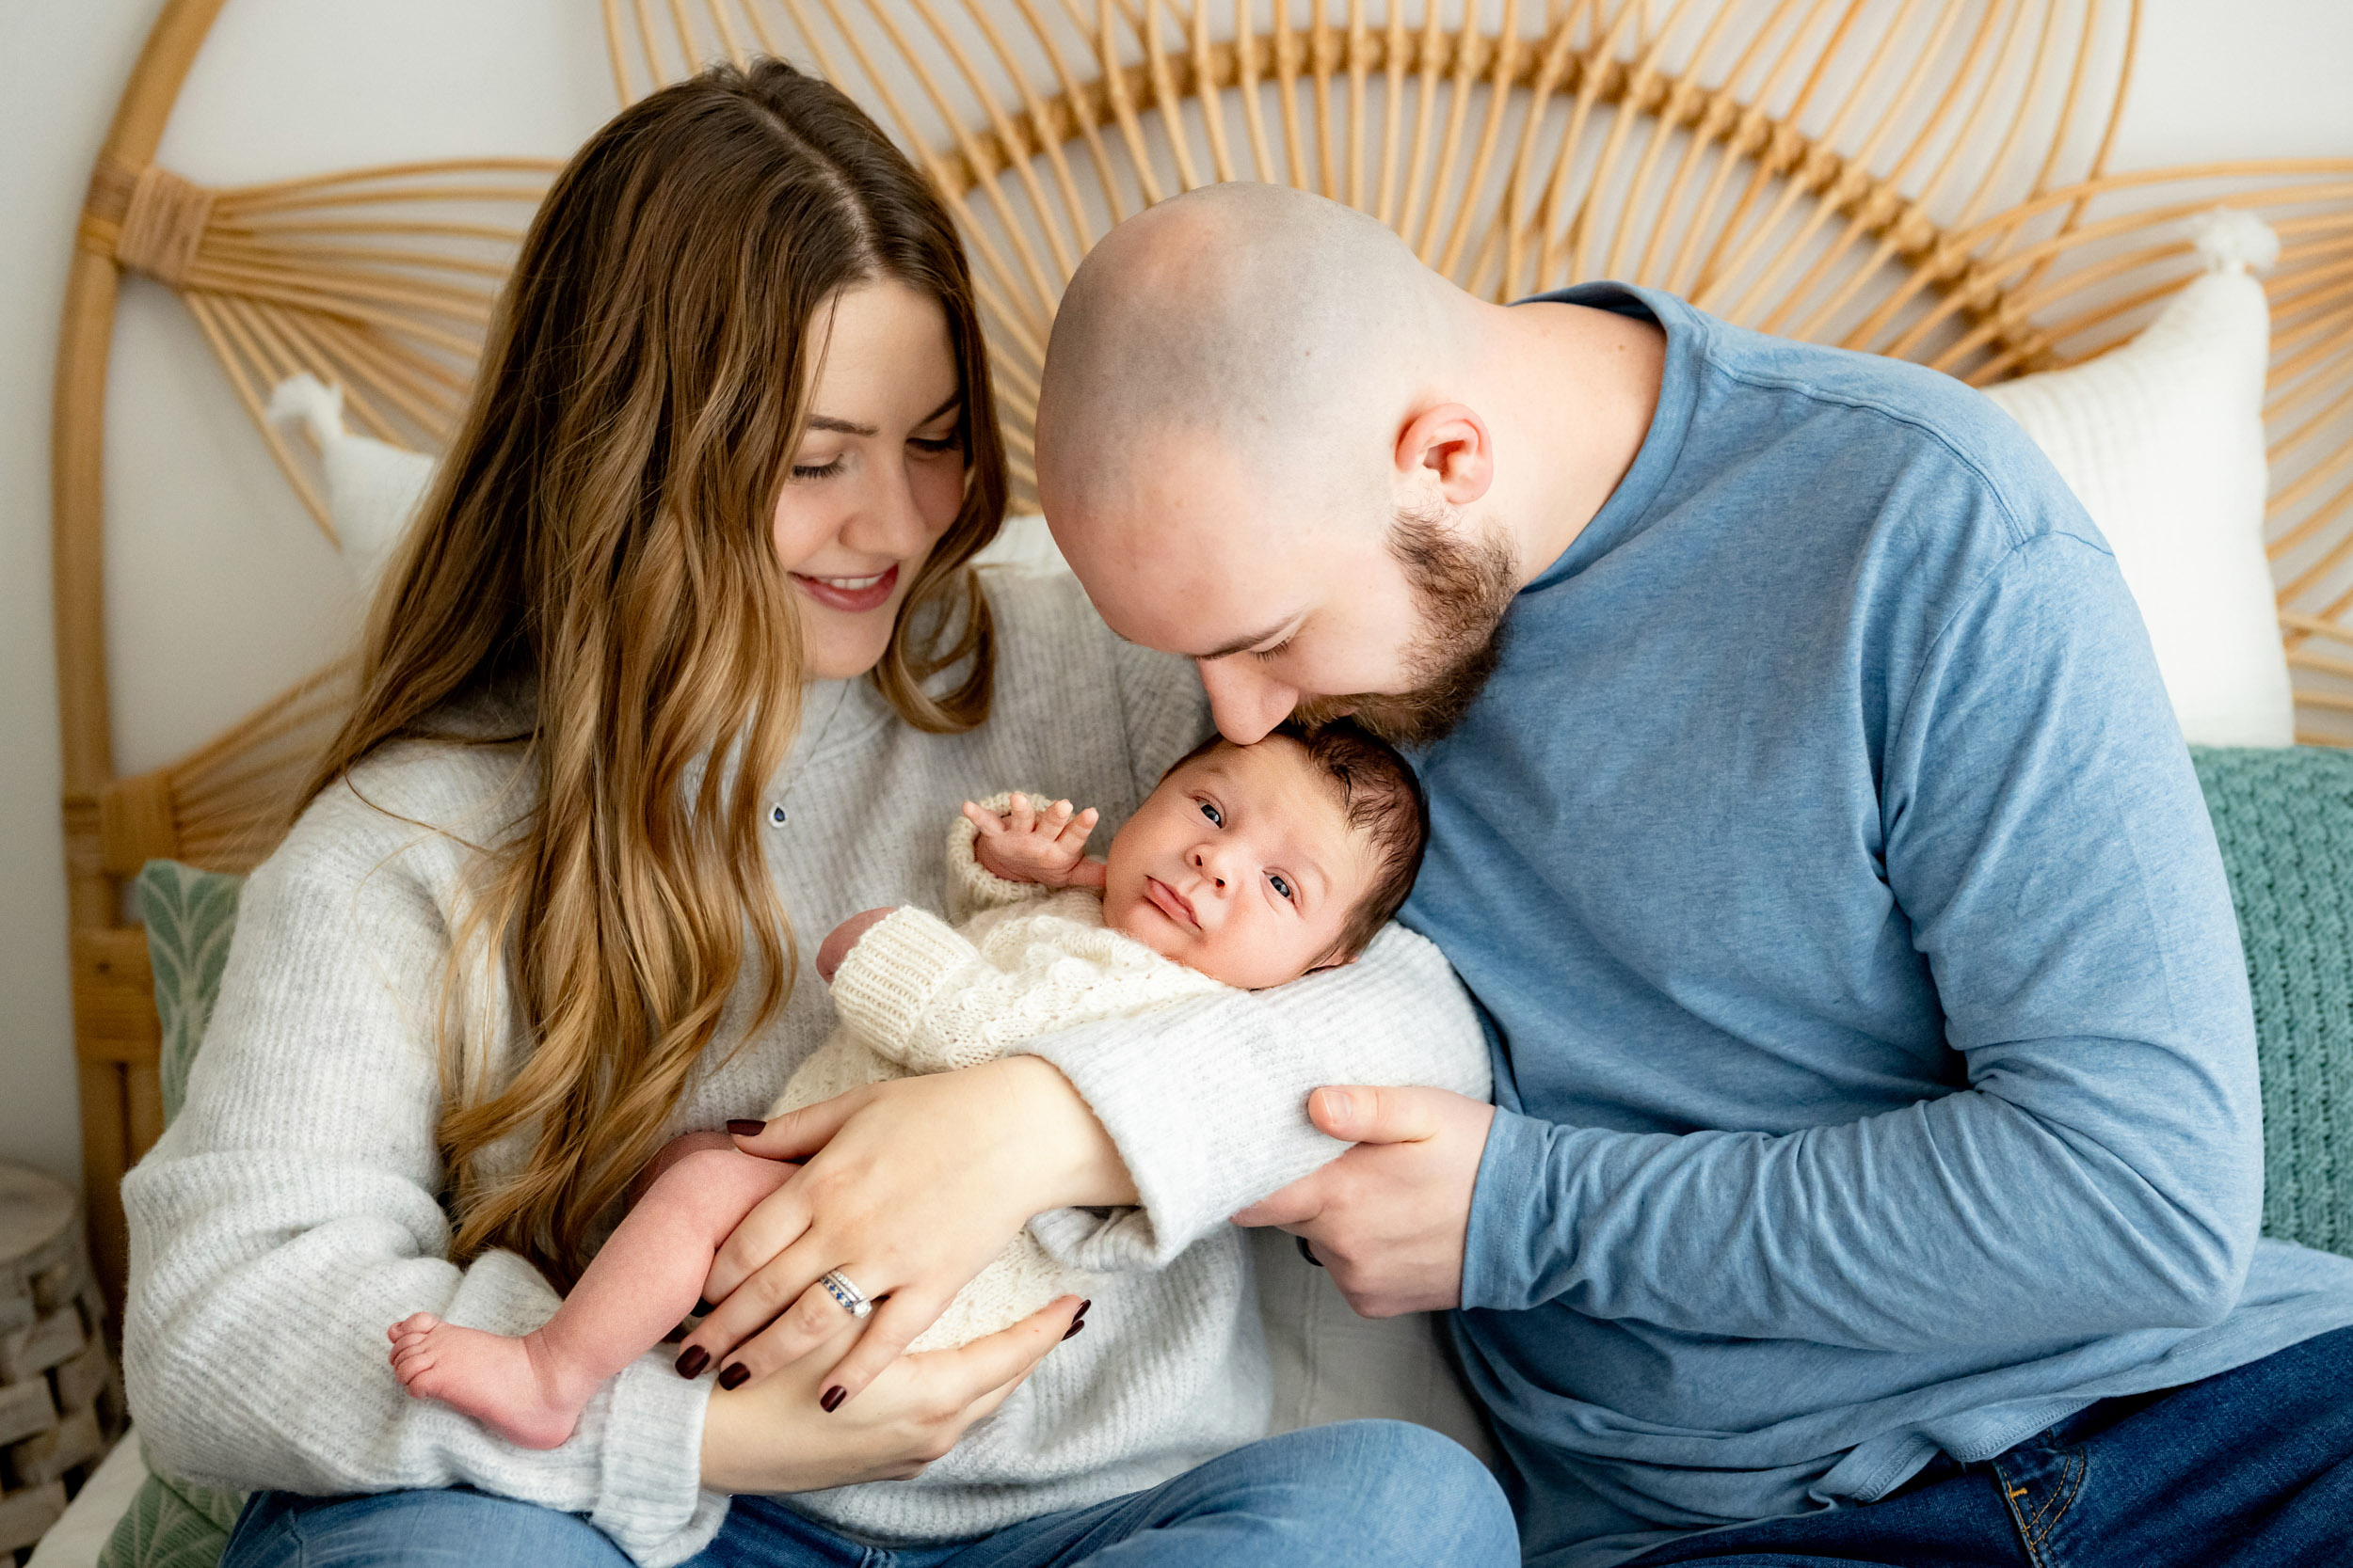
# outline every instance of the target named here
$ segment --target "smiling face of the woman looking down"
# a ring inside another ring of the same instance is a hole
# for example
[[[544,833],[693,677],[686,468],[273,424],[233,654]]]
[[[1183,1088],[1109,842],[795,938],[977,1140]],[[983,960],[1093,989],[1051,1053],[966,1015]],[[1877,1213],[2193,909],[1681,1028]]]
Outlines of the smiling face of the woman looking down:
[[[809,428],[776,496],[776,559],[800,595],[802,670],[873,670],[922,559],[965,498],[948,315],[901,282],[842,289],[812,331]]]

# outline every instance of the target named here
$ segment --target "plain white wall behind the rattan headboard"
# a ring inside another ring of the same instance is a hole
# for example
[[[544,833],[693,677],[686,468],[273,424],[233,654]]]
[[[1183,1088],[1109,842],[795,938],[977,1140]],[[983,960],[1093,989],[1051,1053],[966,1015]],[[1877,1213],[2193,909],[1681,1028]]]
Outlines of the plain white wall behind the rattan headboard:
[[[49,367],[82,186],[158,0],[0,0],[0,1157],[80,1173],[49,642]],[[569,150],[612,108],[591,0],[231,0],[162,162],[202,181]],[[2148,0],[2115,169],[2353,155],[2353,5]],[[118,766],[304,672],[353,614],[186,313],[132,284],[106,480]],[[181,649],[202,646],[191,661]]]

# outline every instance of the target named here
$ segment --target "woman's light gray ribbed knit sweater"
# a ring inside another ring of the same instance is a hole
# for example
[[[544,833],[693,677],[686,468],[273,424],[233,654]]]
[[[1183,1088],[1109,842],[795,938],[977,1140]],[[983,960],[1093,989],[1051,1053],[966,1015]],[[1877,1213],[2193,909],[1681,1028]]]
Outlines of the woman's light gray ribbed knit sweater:
[[[1118,827],[1207,731],[1191,670],[1111,637],[1068,578],[993,576],[991,604],[998,696],[979,731],[918,733],[866,682],[809,691],[769,842],[805,973],[776,1020],[689,1084],[671,1131],[776,1098],[833,1023],[807,971],[816,936],[873,905],[944,907],[939,825],[969,792],[1052,778]],[[652,1352],[565,1446],[534,1453],[407,1399],[384,1354],[386,1324],[409,1312],[527,1333],[555,1309],[511,1253],[447,1260],[433,1140],[449,931],[473,846],[499,837],[522,790],[513,748],[395,748],[320,797],[254,872],[186,1110],[125,1180],[125,1375],[158,1460],[193,1481],[478,1486],[586,1514],[664,1568],[699,1552],[727,1509],[699,1488],[708,1378],[687,1382]],[[496,976],[480,978],[473,1006],[506,1018]],[[748,983],[739,1009],[748,1016]],[[473,1034],[492,1072],[511,1070],[504,1023]],[[824,1493],[819,1512],[878,1540],[981,1535],[1259,1436],[1266,1373],[1240,1253],[1209,1246],[1195,1262],[1195,1244],[1339,1152],[1304,1117],[1313,1086],[1485,1093],[1478,1041],[1445,959],[1398,929],[1344,971],[1033,1041],[1101,1117],[1144,1199],[1146,1222],[1106,1229],[1127,1255],[1101,1262],[1155,1272],[1049,1356],[1052,1413],[1016,1399],[967,1434],[967,1446],[1049,1441],[1059,1458],[1038,1483],[922,1476]],[[1480,1063],[1475,1084],[1454,1081],[1466,1063]],[[1134,1347],[1176,1354],[1122,1354]],[[1089,1462],[1073,1467],[1071,1453]]]

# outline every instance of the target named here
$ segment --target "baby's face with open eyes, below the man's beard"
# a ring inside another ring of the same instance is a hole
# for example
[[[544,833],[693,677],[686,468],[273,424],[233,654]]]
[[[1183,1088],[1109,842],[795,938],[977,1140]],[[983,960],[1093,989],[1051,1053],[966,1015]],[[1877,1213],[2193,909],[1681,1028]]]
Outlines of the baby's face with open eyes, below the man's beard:
[[[1259,990],[1329,957],[1374,872],[1304,745],[1221,745],[1162,778],[1111,839],[1104,924]]]

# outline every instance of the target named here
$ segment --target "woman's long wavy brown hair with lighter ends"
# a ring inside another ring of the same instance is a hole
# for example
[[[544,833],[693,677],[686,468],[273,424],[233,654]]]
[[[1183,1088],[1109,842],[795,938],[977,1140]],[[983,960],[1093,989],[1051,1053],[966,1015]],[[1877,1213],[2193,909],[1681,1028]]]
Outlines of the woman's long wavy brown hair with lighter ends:
[[[440,715],[464,698],[536,698],[508,738],[529,811],[485,851],[452,940],[452,997],[468,952],[504,954],[525,1032],[513,1074],[487,1081],[445,1009],[461,1260],[508,1246],[576,1279],[746,969],[753,1027],[791,994],[798,950],[760,842],[802,686],[772,515],[824,306],[871,280],[944,306],[967,454],[962,508],[871,679],[908,724],[960,731],[988,715],[969,559],[1002,522],[1005,456],[972,277],[913,165],[816,78],[713,68],[600,129],[522,240],[311,785],[391,741],[459,743]],[[520,1171],[485,1173],[506,1140],[527,1140]]]

